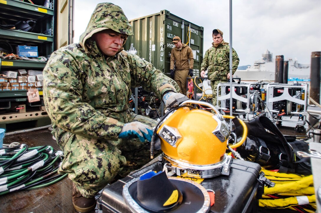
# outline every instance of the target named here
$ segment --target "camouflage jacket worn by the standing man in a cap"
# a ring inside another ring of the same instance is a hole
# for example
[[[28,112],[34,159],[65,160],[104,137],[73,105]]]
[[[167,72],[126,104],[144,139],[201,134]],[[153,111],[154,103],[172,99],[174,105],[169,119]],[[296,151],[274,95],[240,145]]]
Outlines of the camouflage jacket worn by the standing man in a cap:
[[[208,79],[210,80],[226,80],[227,74],[230,72],[230,45],[219,44],[217,48],[212,47],[205,52],[204,59],[201,64],[201,71],[208,70]],[[239,66],[239,56],[232,49],[232,73],[234,74]]]

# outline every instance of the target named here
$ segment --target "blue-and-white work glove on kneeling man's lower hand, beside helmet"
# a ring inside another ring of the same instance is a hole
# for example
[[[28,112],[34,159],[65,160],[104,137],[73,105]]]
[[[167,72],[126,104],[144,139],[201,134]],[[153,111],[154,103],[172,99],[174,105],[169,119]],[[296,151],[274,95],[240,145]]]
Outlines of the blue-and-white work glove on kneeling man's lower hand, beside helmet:
[[[123,129],[119,133],[119,138],[133,139],[139,138],[140,141],[144,142],[148,140],[152,141],[153,131],[149,126],[138,121],[126,123]]]

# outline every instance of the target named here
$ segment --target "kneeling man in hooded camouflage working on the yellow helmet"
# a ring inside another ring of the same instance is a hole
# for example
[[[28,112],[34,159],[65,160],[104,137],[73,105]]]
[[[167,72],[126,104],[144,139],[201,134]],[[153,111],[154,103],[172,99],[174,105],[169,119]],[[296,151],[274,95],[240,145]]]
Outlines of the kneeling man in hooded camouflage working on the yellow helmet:
[[[157,122],[129,111],[131,87],[154,92],[167,107],[183,96],[151,63],[123,50],[128,35],[122,9],[98,4],[80,43],[53,52],[44,68],[45,106],[65,154],[58,172],[73,181],[80,212],[94,209],[95,194],[116,176],[150,159],[147,141]]]

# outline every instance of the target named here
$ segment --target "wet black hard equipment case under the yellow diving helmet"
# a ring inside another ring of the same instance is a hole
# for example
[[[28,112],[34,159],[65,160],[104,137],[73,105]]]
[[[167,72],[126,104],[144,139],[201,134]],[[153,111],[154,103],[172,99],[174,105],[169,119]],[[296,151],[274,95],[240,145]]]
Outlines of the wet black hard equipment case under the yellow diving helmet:
[[[122,197],[123,187],[133,178],[150,170],[161,171],[162,163],[155,162],[106,186],[97,200],[98,208],[102,212],[131,212]],[[259,180],[260,170],[261,166],[257,163],[233,159],[229,176],[204,179],[201,185],[215,192],[215,204],[209,212],[257,212],[258,199],[264,187],[264,183]]]

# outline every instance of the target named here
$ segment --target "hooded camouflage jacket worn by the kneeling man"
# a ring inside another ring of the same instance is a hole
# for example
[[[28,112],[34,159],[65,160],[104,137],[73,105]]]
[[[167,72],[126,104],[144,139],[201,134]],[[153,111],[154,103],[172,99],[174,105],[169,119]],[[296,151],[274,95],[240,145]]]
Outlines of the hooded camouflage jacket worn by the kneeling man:
[[[117,140],[129,122],[131,87],[143,86],[159,98],[176,91],[169,77],[137,55],[119,51],[106,58],[91,39],[104,29],[133,35],[120,7],[98,4],[80,43],[53,52],[44,68],[45,106],[58,135]]]

